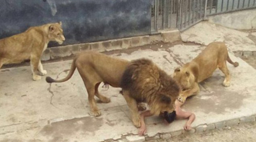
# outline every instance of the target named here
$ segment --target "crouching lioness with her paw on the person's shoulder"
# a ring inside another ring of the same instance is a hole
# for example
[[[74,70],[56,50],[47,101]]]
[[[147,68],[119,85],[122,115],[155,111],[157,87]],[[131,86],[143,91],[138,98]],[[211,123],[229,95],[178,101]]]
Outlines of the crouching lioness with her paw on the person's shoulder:
[[[224,86],[230,86],[230,72],[226,61],[237,67],[238,62],[233,62],[228,56],[227,47],[223,42],[210,43],[195,59],[174,70],[173,79],[182,88],[178,100],[182,103],[187,97],[199,93],[198,83],[209,78],[219,68],[225,74]]]

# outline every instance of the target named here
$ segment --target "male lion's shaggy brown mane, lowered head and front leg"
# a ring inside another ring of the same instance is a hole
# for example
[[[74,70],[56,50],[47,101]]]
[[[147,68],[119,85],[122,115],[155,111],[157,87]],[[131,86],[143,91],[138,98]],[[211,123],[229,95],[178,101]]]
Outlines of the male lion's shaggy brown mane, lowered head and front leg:
[[[122,76],[121,88],[136,127],[141,125],[137,103],[147,103],[152,115],[172,113],[180,92],[178,83],[149,59],[131,61]]]

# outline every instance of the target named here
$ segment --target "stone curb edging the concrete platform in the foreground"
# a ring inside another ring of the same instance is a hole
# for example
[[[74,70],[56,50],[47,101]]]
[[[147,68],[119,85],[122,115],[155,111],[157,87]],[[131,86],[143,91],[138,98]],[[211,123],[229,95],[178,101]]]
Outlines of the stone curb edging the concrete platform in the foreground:
[[[209,131],[213,129],[221,130],[225,127],[240,125],[244,123],[252,123],[252,122],[256,122],[256,114],[252,116],[230,119],[230,120],[220,121],[220,122],[211,123],[211,124],[202,124],[192,128],[190,131],[185,131],[182,129],[182,130],[168,132],[168,133],[157,133],[153,137],[148,137],[147,135],[139,136],[135,134],[126,134],[126,135],[122,135],[120,139],[108,139],[102,142],[143,142],[143,141],[150,141],[150,140],[156,140],[156,139],[170,139],[172,137],[175,137],[181,134],[200,133],[200,132]]]

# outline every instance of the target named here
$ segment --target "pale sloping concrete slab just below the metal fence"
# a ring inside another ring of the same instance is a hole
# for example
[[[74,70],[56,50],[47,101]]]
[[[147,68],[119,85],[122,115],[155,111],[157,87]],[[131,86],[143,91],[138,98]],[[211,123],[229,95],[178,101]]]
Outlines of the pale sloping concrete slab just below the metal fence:
[[[226,28],[218,24],[202,21],[181,33],[183,42],[208,45],[211,42],[225,42],[231,51],[256,51],[250,33]]]

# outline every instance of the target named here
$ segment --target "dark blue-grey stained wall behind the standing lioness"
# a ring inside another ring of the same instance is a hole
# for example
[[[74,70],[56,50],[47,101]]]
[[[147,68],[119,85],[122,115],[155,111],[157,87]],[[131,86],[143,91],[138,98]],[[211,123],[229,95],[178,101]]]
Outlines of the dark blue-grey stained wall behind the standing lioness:
[[[150,8],[151,0],[0,0],[0,38],[58,21],[64,45],[148,35]]]

